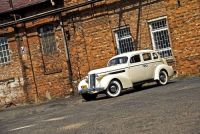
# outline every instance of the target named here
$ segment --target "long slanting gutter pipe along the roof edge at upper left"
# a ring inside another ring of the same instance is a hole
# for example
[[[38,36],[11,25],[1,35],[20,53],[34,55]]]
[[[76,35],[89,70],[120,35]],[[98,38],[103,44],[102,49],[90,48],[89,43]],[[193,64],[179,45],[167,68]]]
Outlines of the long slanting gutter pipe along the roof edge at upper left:
[[[73,5],[73,6],[69,6],[69,7],[57,8],[57,9],[46,11],[46,12],[39,13],[39,14],[36,14],[36,15],[20,18],[20,19],[15,20],[15,21],[10,21],[10,22],[0,24],[0,28],[16,25],[16,24],[19,24],[19,23],[22,23],[22,22],[31,21],[31,20],[38,19],[38,18],[41,18],[41,17],[53,15],[53,14],[56,14],[56,13],[61,13],[61,12],[64,12],[64,11],[70,11],[70,10],[77,9],[77,8],[80,8],[80,7],[84,7],[84,6],[94,4],[94,3],[97,3],[97,2],[100,2],[100,1],[103,1],[103,0],[92,0],[92,1],[87,1],[87,2],[80,3],[80,4],[76,4],[76,5]]]

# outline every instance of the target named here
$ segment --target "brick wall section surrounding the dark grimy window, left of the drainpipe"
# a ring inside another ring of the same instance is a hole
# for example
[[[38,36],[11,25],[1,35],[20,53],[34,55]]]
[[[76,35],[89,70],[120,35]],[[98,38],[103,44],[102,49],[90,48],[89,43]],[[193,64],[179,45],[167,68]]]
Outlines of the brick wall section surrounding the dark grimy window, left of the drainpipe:
[[[30,74],[27,86],[30,87],[29,90],[35,91],[31,95],[36,94],[40,100],[49,99],[49,94],[50,98],[56,98],[66,96],[71,92],[61,27],[55,23],[56,20],[57,17],[47,17],[38,22],[26,23],[26,47],[29,46],[31,54],[31,59],[30,54],[27,54],[29,58],[25,60],[28,65],[26,72]],[[43,24],[53,24],[55,27],[57,51],[50,56],[42,54],[37,32]]]

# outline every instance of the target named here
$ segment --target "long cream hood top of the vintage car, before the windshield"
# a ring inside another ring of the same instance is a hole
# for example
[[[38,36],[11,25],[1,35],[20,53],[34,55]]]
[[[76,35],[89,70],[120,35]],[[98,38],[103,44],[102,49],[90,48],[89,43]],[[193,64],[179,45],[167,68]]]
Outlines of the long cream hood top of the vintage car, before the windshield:
[[[115,65],[115,66],[95,69],[95,70],[90,71],[88,74],[90,75],[90,74],[110,73],[114,71],[124,70],[126,67],[127,67],[127,64]]]

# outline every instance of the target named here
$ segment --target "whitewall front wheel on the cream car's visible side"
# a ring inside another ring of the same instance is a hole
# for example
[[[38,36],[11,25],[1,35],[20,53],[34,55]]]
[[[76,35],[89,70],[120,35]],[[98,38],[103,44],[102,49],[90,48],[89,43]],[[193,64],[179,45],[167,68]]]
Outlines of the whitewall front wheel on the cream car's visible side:
[[[106,89],[106,95],[109,97],[117,97],[120,95],[121,90],[122,90],[121,84],[118,81],[113,80],[110,82],[108,88]]]

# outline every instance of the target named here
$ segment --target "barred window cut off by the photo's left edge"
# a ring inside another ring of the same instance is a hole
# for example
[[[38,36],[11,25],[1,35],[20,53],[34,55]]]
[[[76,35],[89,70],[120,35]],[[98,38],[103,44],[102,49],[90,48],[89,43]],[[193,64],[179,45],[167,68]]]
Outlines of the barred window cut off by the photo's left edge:
[[[10,62],[10,51],[8,49],[8,40],[6,37],[0,37],[0,64]]]

